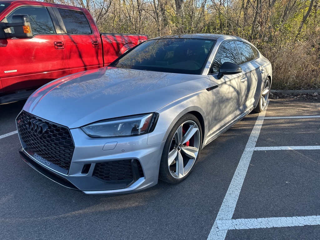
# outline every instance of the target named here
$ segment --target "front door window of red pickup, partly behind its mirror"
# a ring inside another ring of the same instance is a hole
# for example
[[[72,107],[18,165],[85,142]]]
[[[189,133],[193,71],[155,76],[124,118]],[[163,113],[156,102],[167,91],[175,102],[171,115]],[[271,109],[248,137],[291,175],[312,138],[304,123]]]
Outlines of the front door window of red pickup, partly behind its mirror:
[[[20,7],[11,12],[7,21],[12,23],[13,15],[28,15],[33,35],[36,34],[56,34],[49,12],[45,7]],[[12,33],[13,28],[11,28]]]

